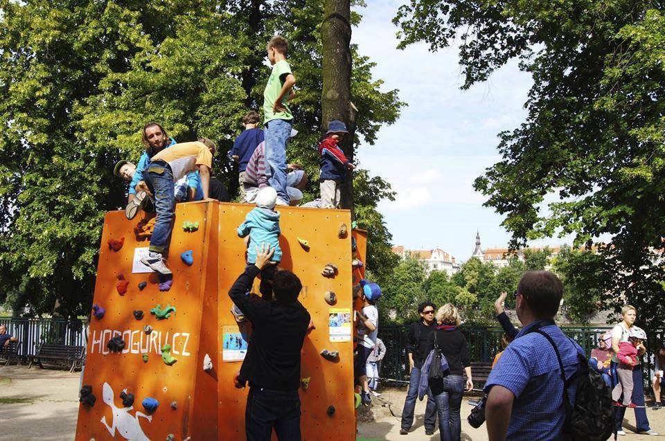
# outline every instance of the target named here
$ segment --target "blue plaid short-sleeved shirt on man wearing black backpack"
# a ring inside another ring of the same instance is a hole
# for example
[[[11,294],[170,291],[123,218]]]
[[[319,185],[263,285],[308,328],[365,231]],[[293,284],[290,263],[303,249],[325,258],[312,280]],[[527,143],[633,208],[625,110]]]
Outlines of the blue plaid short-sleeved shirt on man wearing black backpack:
[[[515,395],[508,440],[563,440],[565,406],[563,405],[563,381],[554,348],[547,339],[533,330],[539,322],[529,323],[508,345],[490,372],[485,384],[488,392],[492,386],[504,386]],[[578,370],[578,353],[582,348],[571,341],[556,325],[540,328],[551,336],[557,345],[566,378]],[[571,404],[575,402],[574,385],[568,388]]]

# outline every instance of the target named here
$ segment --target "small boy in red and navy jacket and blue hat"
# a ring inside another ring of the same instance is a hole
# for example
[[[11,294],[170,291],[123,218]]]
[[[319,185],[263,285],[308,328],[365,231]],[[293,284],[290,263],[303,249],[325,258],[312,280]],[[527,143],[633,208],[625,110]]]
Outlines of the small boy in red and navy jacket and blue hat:
[[[342,121],[330,121],[326,138],[319,144],[321,208],[339,208],[341,184],[346,180],[346,169],[355,168],[337,145],[347,133],[346,125]]]

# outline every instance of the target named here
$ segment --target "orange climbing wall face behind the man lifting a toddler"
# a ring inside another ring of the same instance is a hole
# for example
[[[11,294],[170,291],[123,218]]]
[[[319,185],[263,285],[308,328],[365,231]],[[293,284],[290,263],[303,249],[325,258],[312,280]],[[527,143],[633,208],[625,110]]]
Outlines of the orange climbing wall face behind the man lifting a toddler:
[[[236,228],[254,208],[240,204],[220,204],[220,327],[238,327],[231,309],[228,292],[236,277],[245,269],[245,244],[236,235]],[[299,300],[310,312],[316,330],[305,337],[301,377],[311,377],[308,390],[300,390],[302,402],[301,428],[303,440],[355,440],[355,409],[353,406],[353,342],[330,343],[328,312],[330,308],[351,311],[351,216],[347,210],[278,207],[282,235],[283,259],[280,267],[293,271],[303,283]],[[348,226],[345,238],[338,237],[339,226]],[[305,251],[296,237],[308,240]],[[325,278],[321,270],[327,263],[337,266],[335,278]],[[326,291],[335,291],[337,304],[323,300]],[[258,293],[258,280],[253,292]],[[222,330],[220,330],[222,341]],[[339,351],[339,361],[323,359],[324,348]],[[223,362],[218,354],[220,384],[218,408],[220,440],[245,438],[245,404],[247,390],[233,388],[233,374],[240,361]],[[335,406],[332,417],[328,406]],[[274,438],[276,439],[276,438]]]

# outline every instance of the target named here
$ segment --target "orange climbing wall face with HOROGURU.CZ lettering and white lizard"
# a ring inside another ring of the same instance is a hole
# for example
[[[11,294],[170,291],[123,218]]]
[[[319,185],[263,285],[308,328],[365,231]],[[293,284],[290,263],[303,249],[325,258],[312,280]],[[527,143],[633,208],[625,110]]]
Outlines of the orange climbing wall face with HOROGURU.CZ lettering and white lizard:
[[[185,220],[198,221],[199,230],[186,233],[182,230]],[[89,342],[83,384],[93,387],[97,397],[94,407],[80,406],[76,440],[165,440],[169,433],[175,440],[191,436],[194,440],[214,440],[217,431],[215,373],[202,370],[206,352],[215,359],[217,351],[217,226],[216,203],[197,202],[179,204],[176,210],[169,267],[173,271],[170,291],[159,291],[157,277],[153,273],[132,273],[134,248],[147,247],[148,242],[138,242],[132,231],[137,219],[128,221],[121,211],[107,213],[100,246],[94,303],[106,309],[103,318],[91,318]],[[107,245],[110,238],[125,238],[120,251],[112,251]],[[188,267],[179,255],[194,251],[194,264]],[[130,281],[125,296],[116,291],[117,273],[123,273]],[[139,291],[139,282],[148,286]],[[177,312],[168,319],[158,321],[150,314],[157,304],[176,307]],[[143,310],[141,321],[134,318],[135,309]],[[203,312],[203,314],[202,314]],[[143,332],[144,325],[154,330],[150,336]],[[108,353],[107,342],[112,334],[120,334],[125,340],[122,353]],[[166,366],[161,359],[161,346],[172,345],[172,355],[177,362]],[[141,354],[148,353],[144,363]],[[112,390],[112,397],[105,402],[104,384]],[[134,406],[123,408],[119,395],[123,389],[135,396]],[[137,417],[145,413],[141,402],[145,397],[159,401],[152,421]],[[177,403],[174,410],[171,402]],[[114,410],[115,408],[115,410]],[[114,429],[115,436],[101,422]],[[137,432],[138,430],[138,432]],[[129,433],[130,435],[123,436]]]

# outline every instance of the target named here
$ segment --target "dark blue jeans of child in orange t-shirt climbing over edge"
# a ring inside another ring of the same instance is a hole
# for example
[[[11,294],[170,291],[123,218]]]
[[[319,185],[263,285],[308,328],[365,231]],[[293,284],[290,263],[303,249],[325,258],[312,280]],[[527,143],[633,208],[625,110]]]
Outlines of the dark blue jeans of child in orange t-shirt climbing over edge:
[[[154,195],[157,220],[154,221],[150,251],[165,254],[175,221],[175,184],[167,163],[152,161],[145,166],[143,180]]]

